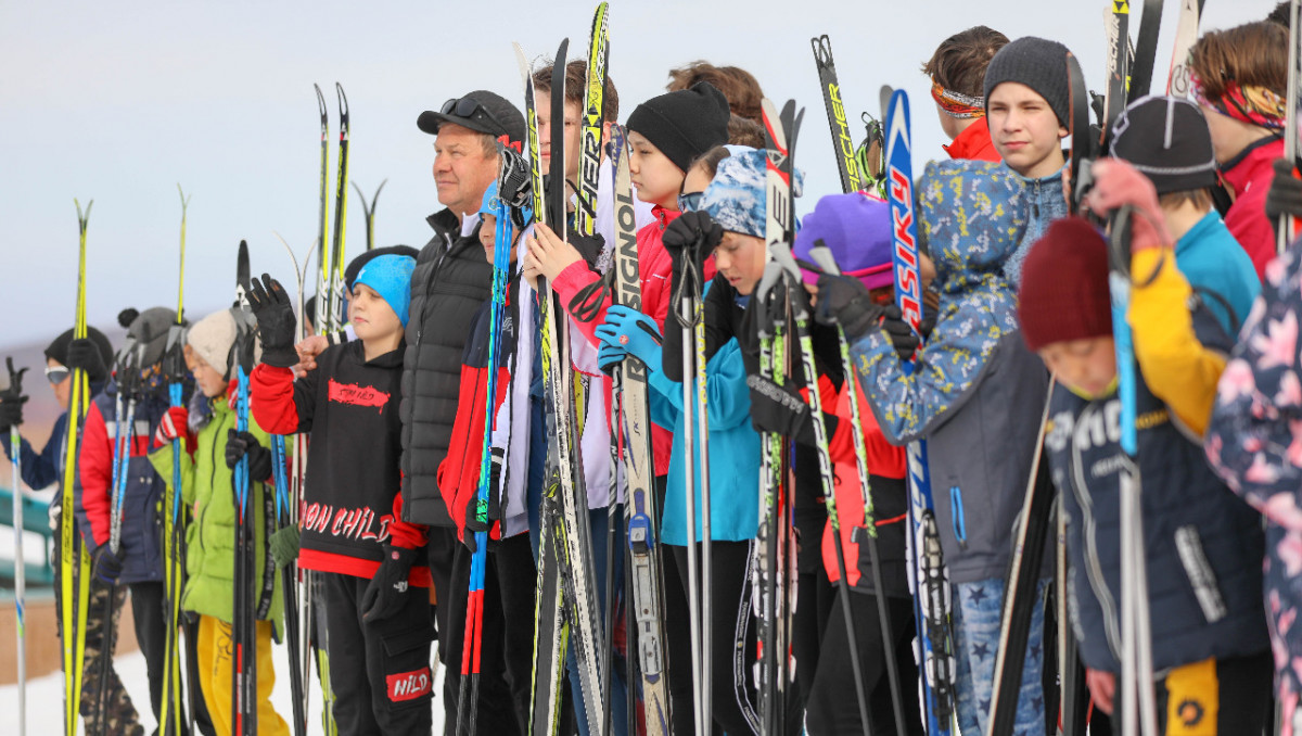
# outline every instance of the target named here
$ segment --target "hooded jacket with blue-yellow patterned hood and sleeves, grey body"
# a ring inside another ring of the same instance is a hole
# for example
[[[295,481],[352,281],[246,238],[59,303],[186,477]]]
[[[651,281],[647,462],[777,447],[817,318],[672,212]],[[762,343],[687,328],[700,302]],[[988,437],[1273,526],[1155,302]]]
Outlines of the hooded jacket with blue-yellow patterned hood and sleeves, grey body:
[[[1001,578],[1026,496],[1048,374],[1026,349],[1005,267],[1026,227],[1026,190],[1003,164],[927,164],[919,240],[936,263],[936,327],[907,373],[874,331],[852,347],[881,432],[928,443],[932,502],[950,581]]]

